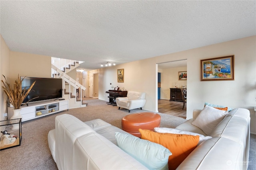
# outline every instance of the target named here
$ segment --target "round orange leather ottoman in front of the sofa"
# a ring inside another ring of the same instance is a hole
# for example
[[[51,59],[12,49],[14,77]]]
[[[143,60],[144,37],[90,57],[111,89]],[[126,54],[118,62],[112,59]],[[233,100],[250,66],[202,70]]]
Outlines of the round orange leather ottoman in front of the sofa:
[[[122,129],[136,137],[141,137],[139,129],[154,130],[160,127],[161,117],[157,113],[134,113],[122,118]]]

